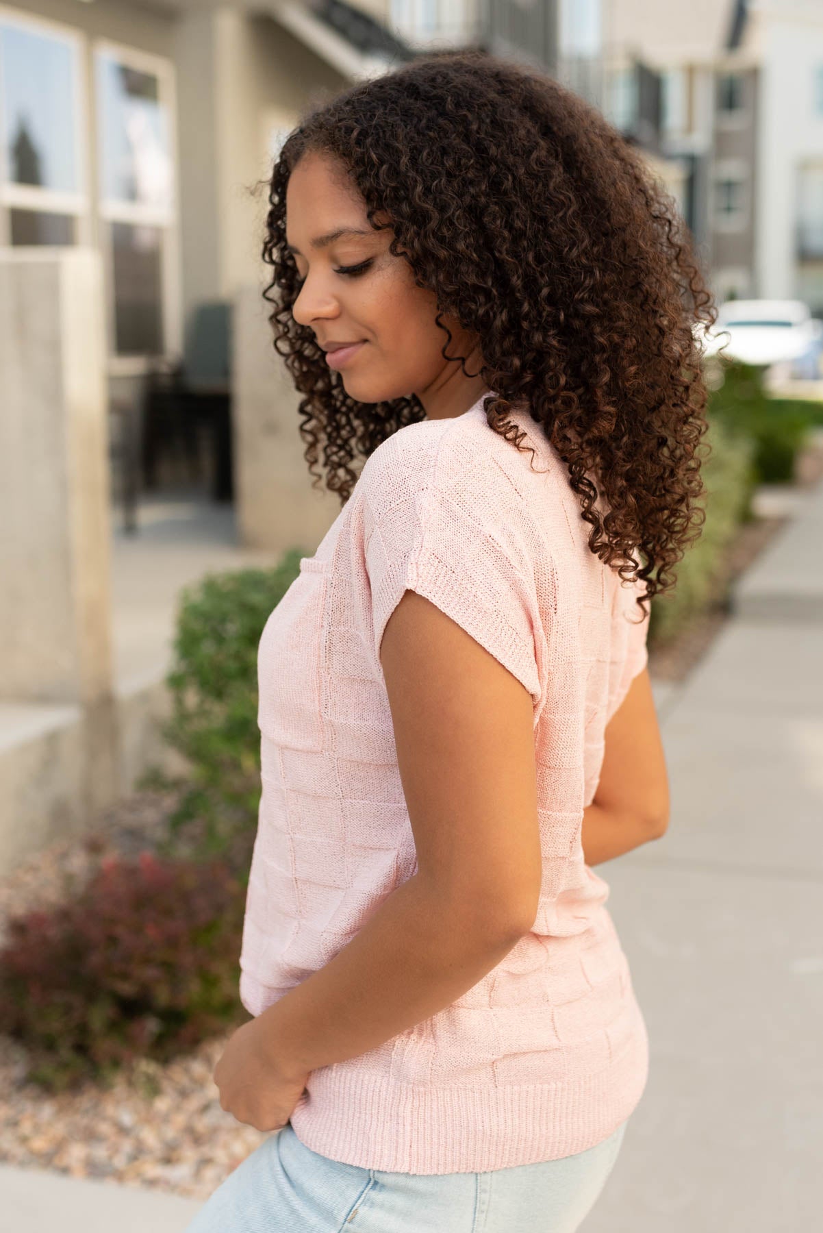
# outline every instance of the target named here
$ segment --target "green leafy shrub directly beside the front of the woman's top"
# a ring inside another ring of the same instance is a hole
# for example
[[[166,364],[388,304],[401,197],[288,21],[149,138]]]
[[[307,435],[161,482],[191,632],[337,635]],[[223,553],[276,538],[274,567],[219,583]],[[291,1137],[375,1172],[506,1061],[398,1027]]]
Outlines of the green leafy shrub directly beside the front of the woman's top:
[[[163,735],[186,760],[189,777],[154,769],[142,779],[181,789],[166,854],[184,832],[190,841],[196,835],[195,854],[224,856],[248,877],[260,801],[257,645],[304,555],[292,549],[274,570],[211,575],[182,592]]]

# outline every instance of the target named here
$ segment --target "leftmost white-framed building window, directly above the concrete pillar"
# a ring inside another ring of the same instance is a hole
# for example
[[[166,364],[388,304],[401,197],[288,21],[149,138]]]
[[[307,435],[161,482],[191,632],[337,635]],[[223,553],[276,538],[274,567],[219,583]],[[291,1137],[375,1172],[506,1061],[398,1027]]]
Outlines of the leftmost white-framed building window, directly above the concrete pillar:
[[[0,16],[0,244],[85,238],[80,63],[71,32]]]

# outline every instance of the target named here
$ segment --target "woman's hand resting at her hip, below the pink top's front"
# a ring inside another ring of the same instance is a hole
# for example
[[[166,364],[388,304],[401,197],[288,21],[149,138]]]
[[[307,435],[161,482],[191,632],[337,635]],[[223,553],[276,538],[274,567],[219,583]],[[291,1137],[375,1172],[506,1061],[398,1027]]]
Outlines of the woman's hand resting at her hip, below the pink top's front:
[[[277,1057],[274,1025],[264,1016],[239,1027],[214,1067],[221,1107],[256,1131],[278,1131],[299,1102],[309,1071]]]

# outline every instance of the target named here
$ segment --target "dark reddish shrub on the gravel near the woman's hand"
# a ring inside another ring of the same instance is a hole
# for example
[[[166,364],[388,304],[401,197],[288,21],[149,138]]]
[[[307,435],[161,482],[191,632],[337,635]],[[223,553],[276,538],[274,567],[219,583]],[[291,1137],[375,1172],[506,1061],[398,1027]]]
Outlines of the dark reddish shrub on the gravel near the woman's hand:
[[[245,890],[222,862],[107,858],[57,907],[7,922],[0,1031],[59,1091],[168,1060],[248,1016],[238,954]]]

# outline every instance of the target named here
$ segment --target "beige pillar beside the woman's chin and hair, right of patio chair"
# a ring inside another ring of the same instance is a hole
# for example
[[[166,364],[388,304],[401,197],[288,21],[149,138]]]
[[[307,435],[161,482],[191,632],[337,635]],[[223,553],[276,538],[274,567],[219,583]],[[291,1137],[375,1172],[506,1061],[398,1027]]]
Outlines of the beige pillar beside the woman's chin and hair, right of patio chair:
[[[234,297],[234,491],[240,541],[277,554],[317,549],[341,509],[340,498],[313,488],[303,457],[296,392],[272,345],[264,284]],[[322,466],[318,462],[318,470]]]

